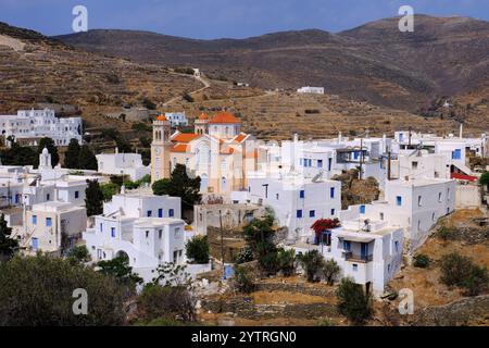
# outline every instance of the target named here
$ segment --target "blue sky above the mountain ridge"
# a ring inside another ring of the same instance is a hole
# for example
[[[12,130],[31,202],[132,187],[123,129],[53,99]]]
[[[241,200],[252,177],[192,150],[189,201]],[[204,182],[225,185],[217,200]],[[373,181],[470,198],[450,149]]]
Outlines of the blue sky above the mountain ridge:
[[[0,21],[45,35],[71,34],[75,5],[88,10],[88,29],[150,30],[200,39],[246,38],[281,30],[341,32],[414,13],[489,21],[489,0],[0,0]]]

